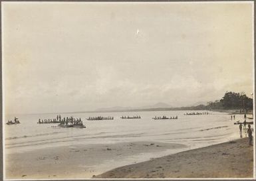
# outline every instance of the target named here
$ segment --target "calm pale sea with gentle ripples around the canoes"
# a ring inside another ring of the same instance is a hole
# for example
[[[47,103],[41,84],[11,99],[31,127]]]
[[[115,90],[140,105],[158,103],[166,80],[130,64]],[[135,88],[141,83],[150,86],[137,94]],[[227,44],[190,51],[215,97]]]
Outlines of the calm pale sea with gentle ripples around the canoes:
[[[227,113],[209,111],[209,115],[184,115],[186,112],[190,111],[61,114],[62,117],[81,117],[86,129],[53,128],[57,124],[37,124],[39,118],[53,119],[57,114],[15,115],[21,124],[5,125],[5,151],[9,154],[63,145],[135,141],[181,143],[193,149],[239,138],[239,128],[233,125],[234,120],[231,121]],[[86,121],[87,117],[98,115],[112,116],[114,120]],[[142,119],[120,119],[122,115],[140,115]],[[162,115],[178,115],[178,119],[152,119]],[[243,115],[235,116],[235,121],[243,121]],[[5,123],[13,118],[14,115],[6,115]]]

